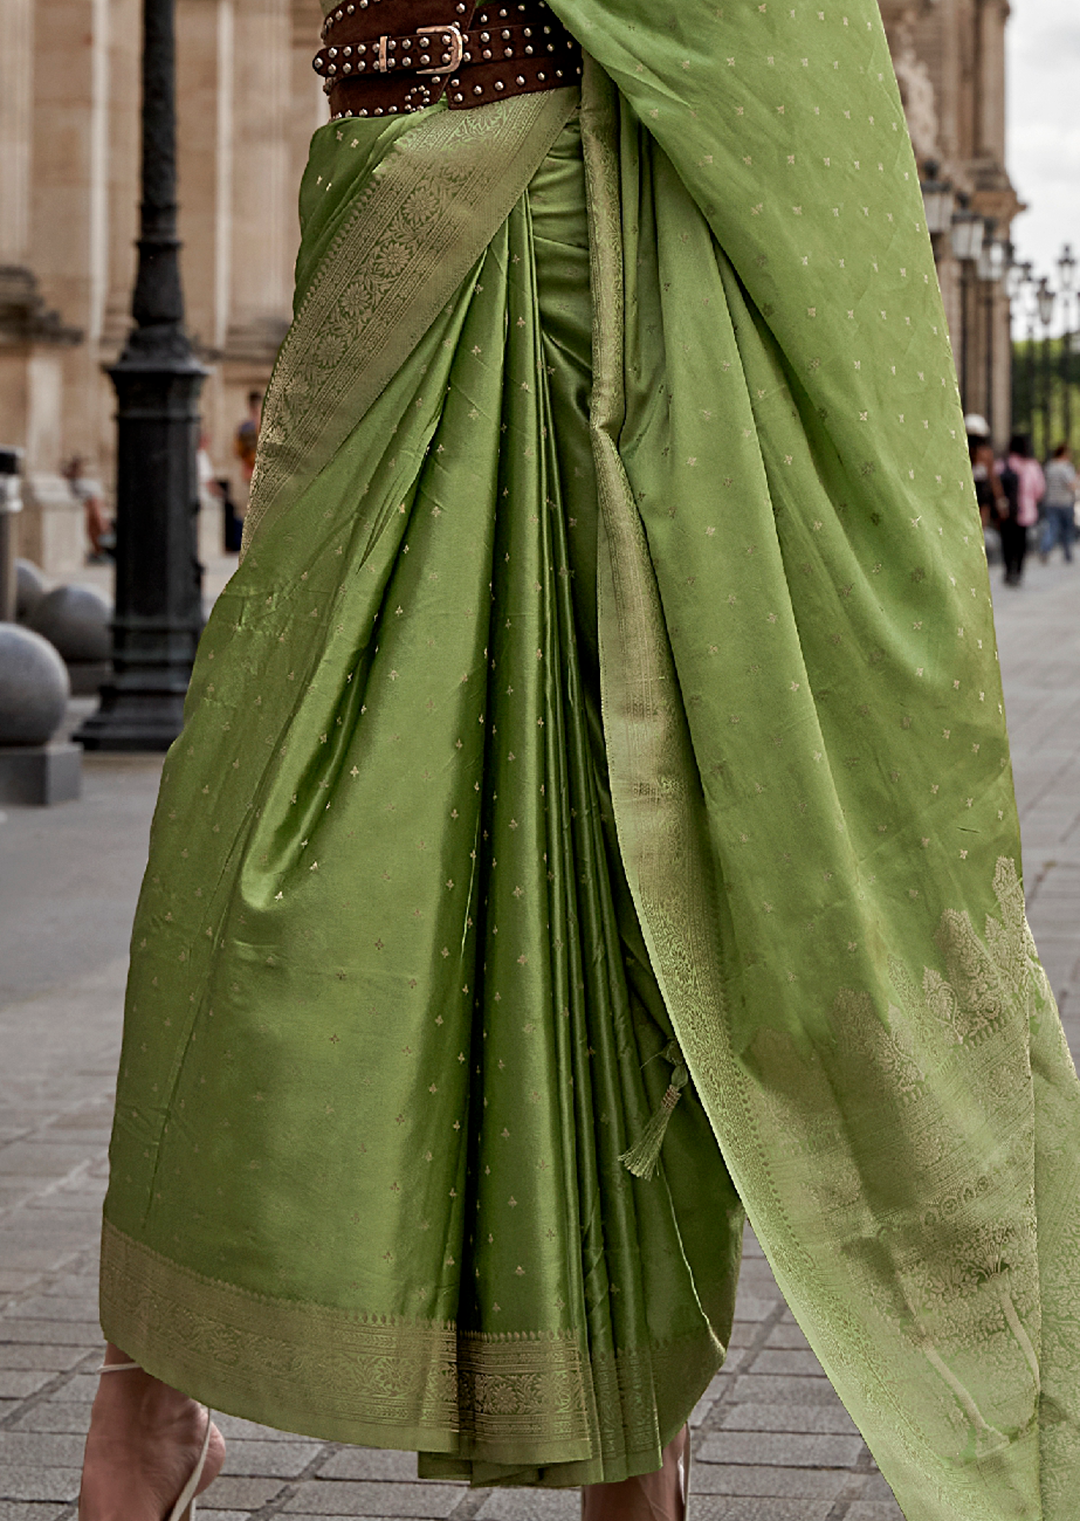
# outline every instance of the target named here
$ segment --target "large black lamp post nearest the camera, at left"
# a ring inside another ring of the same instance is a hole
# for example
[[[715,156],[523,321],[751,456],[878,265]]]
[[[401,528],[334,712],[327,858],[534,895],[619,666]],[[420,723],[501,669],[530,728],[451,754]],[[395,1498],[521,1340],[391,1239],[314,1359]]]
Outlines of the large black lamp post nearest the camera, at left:
[[[198,397],[176,239],[173,0],[143,0],[143,202],[135,325],[110,370],[117,394],[114,675],[76,739],[166,750],[181,729],[202,628],[196,555]]]

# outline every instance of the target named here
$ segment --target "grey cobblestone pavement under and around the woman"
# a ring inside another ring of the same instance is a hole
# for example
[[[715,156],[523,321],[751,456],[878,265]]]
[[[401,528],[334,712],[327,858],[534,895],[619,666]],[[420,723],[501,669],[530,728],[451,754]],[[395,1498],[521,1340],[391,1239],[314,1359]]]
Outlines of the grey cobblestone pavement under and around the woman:
[[[995,587],[1031,922],[1080,1048],[1080,569]],[[75,1516],[128,926],[160,762],[87,757],[81,802],[0,815],[0,1521]],[[402,1453],[224,1418],[207,1521],[572,1521],[573,1492],[418,1483]],[[694,1413],[695,1521],[899,1521],[753,1237]]]

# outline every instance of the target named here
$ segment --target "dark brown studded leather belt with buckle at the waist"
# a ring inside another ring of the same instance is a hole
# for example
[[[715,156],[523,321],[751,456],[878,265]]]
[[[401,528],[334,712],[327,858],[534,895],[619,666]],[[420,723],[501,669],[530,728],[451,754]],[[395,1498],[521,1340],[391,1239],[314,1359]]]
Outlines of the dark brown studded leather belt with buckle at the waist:
[[[447,21],[447,11],[453,20]],[[581,49],[543,0],[347,0],[322,24],[315,71],[333,120],[452,111],[581,78]]]

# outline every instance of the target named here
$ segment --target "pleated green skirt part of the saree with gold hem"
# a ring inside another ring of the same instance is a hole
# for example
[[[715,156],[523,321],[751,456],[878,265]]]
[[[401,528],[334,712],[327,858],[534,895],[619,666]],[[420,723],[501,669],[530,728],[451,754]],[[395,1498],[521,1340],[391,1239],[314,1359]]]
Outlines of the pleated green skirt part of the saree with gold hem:
[[[580,275],[545,300],[535,221]],[[577,654],[587,257],[570,125],[214,607],[106,1212],[103,1320],[146,1367],[482,1483],[657,1466],[723,1358],[742,1218],[692,1098],[707,1212],[683,1230],[619,1162],[671,1025],[624,969]]]

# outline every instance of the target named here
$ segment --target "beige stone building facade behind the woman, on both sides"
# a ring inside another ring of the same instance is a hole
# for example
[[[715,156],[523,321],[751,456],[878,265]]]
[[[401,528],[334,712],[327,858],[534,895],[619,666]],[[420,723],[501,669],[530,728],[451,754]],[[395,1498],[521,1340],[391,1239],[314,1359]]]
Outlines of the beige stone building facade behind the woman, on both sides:
[[[1018,210],[1004,169],[1005,0],[882,11],[920,164],[937,160],[1004,234]],[[208,449],[239,494],[234,430],[289,321],[297,186],[324,120],[310,67],[319,20],[318,0],[176,0],[187,322],[211,371]],[[79,455],[106,490],[111,479],[105,367],[129,327],[135,271],[140,29],[141,0],[0,0],[0,444],[26,450],[21,549],[56,575],[85,549],[64,462]],[[1004,294],[987,297],[942,242],[967,402],[1001,432]]]

